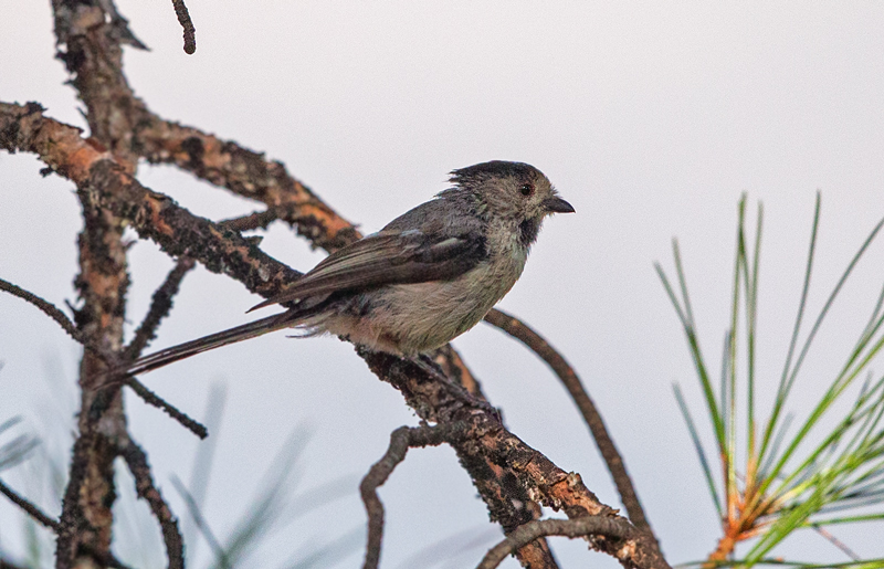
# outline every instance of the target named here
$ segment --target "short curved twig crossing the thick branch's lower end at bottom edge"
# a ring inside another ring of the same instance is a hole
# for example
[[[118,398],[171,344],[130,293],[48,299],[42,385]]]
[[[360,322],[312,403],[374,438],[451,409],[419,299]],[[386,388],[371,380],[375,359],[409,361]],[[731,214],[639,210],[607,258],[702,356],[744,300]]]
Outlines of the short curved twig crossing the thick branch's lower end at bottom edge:
[[[494,546],[476,569],[494,569],[516,549],[547,536],[604,536],[613,539],[635,538],[636,529],[623,518],[587,516],[576,519],[537,519],[516,528],[506,539]]]

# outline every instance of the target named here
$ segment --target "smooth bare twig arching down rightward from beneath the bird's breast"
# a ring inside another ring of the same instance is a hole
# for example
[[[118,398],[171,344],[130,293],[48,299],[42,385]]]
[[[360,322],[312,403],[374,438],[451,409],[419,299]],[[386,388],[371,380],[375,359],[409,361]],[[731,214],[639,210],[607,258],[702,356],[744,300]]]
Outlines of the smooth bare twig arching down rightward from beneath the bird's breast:
[[[599,452],[602,459],[604,459],[608,471],[611,473],[611,477],[620,493],[620,499],[627,508],[629,519],[636,528],[645,531],[651,537],[656,548],[660,549],[660,542],[651,529],[648,517],[644,515],[644,509],[642,508],[641,502],[639,502],[639,495],[632,485],[632,480],[627,472],[623,459],[620,456],[620,452],[618,452],[617,445],[614,445],[610,434],[608,434],[608,429],[604,426],[601,414],[598,409],[596,409],[596,404],[592,402],[592,399],[590,399],[589,393],[587,393],[573,368],[539,334],[515,316],[504,313],[503,310],[492,309],[485,316],[485,322],[522,341],[532,351],[537,354],[540,359],[546,361],[556,376],[558,376],[577,404],[577,408],[580,410],[580,413],[583,415],[587,425],[589,425],[592,438],[596,440]]]

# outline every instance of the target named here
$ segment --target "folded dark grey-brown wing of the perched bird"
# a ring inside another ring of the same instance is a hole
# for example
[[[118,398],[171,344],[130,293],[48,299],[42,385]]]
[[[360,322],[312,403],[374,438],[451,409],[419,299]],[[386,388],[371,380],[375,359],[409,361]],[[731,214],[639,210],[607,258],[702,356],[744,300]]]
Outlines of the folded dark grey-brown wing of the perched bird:
[[[485,240],[477,233],[430,236],[417,230],[381,231],[330,254],[284,293],[252,310],[341,291],[454,278],[485,256]]]

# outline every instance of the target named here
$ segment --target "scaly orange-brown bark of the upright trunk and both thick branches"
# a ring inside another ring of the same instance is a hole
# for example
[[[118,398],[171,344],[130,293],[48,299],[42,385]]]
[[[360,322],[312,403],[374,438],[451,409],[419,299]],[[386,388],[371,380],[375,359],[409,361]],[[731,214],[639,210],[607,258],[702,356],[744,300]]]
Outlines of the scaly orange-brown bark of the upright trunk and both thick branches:
[[[125,226],[141,239],[156,242],[170,256],[196,260],[265,297],[278,294],[299,276],[243,239],[235,224],[213,223],[141,186],[134,177],[139,158],[175,165],[265,204],[272,210],[272,215],[264,215],[266,220],[283,219],[314,246],[333,251],[359,238],[351,223],[294,179],[281,162],[154,115],[135,96],[123,74],[122,45],[143,45],[112,0],[53,0],[52,6],[59,59],[86,106],[90,136],[85,138],[78,129],[44,117],[40,105],[0,103],[0,148],[33,152],[51,171],[76,185],[84,229],[78,241],[81,273],[75,285],[81,304],[75,323],[83,340],[98,347],[98,354],[122,357],[124,349],[128,286],[122,241]],[[266,222],[259,218],[261,213],[248,221]],[[491,518],[506,533],[539,517],[541,504],[564,510],[571,518],[593,515],[629,524],[599,503],[579,475],[559,468],[526,445],[504,429],[493,412],[465,404],[463,398],[452,396],[450,387],[411,361],[357,351],[381,380],[402,393],[421,419],[464,425],[464,431],[444,442],[455,449],[487,504]],[[450,377],[482,397],[478,382],[453,349],[440,350],[435,359]],[[80,432],[59,521],[56,567],[116,563],[109,546],[117,456],[126,459],[139,496],[148,502],[162,528],[169,567],[182,567],[183,546],[175,516],[154,486],[147,455],[130,440],[122,387],[97,384],[96,378],[105,367],[106,362],[92,350],[85,351],[80,379]],[[588,541],[594,549],[617,557],[624,567],[669,567],[642,535],[596,534]],[[525,567],[557,567],[543,537],[523,545],[516,555]]]

